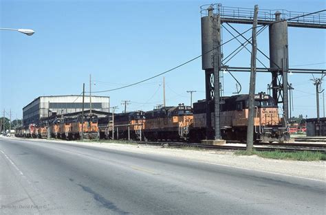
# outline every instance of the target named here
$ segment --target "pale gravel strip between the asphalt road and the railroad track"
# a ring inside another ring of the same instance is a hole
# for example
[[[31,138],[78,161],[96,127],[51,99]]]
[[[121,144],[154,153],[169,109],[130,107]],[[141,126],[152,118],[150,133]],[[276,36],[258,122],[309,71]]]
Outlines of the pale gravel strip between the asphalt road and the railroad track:
[[[17,139],[16,137],[1,137]],[[287,161],[276,159],[265,159],[252,156],[234,155],[230,151],[221,150],[189,150],[181,148],[162,148],[160,146],[145,146],[131,144],[114,144],[114,143],[98,143],[98,142],[67,142],[61,140],[46,139],[29,139],[38,142],[56,142],[63,144],[77,144],[84,146],[94,146],[100,148],[108,148],[114,150],[122,150],[141,154],[171,156],[182,159],[189,159],[204,163],[211,163],[221,166],[232,166],[233,168],[243,168],[256,170],[260,172],[270,172],[274,174],[282,174],[290,177],[301,177],[306,179],[314,179],[326,182],[326,161]]]

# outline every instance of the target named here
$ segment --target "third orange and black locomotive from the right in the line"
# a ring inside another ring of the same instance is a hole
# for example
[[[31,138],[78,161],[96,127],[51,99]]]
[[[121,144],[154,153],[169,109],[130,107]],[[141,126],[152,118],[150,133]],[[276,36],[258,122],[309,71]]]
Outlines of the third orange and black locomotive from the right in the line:
[[[132,111],[114,115],[114,134],[116,139],[142,140],[145,124],[144,111]],[[112,131],[112,129],[111,129]]]

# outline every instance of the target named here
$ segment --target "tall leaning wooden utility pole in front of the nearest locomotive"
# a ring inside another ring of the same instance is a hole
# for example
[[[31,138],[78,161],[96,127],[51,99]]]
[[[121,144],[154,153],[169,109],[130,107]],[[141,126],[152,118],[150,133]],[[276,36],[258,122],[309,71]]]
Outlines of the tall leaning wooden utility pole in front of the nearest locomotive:
[[[258,5],[254,5],[254,23],[252,26],[252,52],[250,64],[250,88],[249,88],[249,113],[247,128],[247,152],[254,148],[254,90],[256,85],[256,56],[257,56],[257,14]]]

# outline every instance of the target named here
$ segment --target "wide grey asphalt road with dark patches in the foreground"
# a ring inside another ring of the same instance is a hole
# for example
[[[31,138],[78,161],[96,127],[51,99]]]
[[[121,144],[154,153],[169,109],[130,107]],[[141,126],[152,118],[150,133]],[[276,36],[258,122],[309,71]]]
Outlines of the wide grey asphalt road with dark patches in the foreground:
[[[0,214],[326,214],[325,182],[173,157],[0,138],[0,166]]]

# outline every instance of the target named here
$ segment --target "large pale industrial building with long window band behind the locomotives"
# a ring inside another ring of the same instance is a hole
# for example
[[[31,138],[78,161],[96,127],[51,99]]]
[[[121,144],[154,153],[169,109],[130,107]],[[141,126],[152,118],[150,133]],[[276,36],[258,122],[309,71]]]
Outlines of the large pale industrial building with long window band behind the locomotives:
[[[91,96],[91,109],[109,112],[110,98],[108,96]],[[85,96],[84,109],[89,110],[89,96]],[[39,123],[42,117],[62,115],[83,110],[81,95],[50,95],[40,96],[23,107],[23,125]]]

